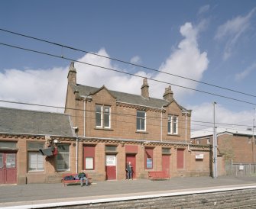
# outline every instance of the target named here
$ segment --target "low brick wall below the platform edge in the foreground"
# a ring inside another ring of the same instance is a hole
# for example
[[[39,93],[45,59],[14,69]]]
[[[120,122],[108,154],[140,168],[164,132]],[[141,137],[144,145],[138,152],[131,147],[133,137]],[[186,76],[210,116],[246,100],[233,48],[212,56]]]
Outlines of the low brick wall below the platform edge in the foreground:
[[[79,205],[59,206],[51,208],[255,208],[256,207],[256,188],[242,188],[229,191],[190,191],[170,193],[163,195],[152,195],[155,197],[138,196],[130,197],[127,200],[118,198],[112,200],[83,201],[77,202]],[[186,194],[187,193],[187,194]]]

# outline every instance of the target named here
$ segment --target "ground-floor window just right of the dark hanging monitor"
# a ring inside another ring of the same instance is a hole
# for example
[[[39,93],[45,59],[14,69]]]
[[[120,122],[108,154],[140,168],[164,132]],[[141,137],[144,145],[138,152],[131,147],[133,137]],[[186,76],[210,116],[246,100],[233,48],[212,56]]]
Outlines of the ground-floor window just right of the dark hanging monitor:
[[[70,170],[70,145],[58,144],[57,171]]]

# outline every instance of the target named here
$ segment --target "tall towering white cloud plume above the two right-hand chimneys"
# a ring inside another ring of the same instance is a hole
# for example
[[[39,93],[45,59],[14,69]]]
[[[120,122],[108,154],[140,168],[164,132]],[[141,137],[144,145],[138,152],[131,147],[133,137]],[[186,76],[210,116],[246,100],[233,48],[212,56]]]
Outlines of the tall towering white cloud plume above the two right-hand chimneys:
[[[180,41],[178,48],[173,50],[173,53],[160,66],[160,71],[169,72],[171,74],[183,76],[190,79],[200,80],[203,77],[203,72],[208,67],[209,60],[207,53],[201,53],[197,43],[197,35],[199,33],[198,27],[193,27],[191,23],[186,23],[180,27],[180,34],[184,39]],[[186,86],[189,88],[196,88],[197,82],[192,82],[187,79],[180,79],[176,76],[168,76],[160,73],[154,79],[169,82],[177,85]],[[153,95],[156,97],[159,92],[163,92],[167,84],[157,84]],[[174,97],[181,99],[184,96],[191,94],[192,91],[186,88],[179,88],[172,86]],[[164,92],[163,92],[164,93]]]

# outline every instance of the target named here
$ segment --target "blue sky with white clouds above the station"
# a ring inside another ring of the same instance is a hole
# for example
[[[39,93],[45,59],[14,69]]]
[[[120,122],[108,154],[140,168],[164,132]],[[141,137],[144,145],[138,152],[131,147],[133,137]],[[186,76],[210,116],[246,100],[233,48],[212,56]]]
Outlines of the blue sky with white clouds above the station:
[[[218,127],[244,130],[253,126],[256,104],[255,22],[254,0],[2,1],[0,29],[83,52],[0,30],[0,100],[64,107],[73,59],[82,85],[140,95],[147,77],[152,98],[163,98],[170,85],[175,100],[192,110],[192,131],[212,127],[214,101]]]

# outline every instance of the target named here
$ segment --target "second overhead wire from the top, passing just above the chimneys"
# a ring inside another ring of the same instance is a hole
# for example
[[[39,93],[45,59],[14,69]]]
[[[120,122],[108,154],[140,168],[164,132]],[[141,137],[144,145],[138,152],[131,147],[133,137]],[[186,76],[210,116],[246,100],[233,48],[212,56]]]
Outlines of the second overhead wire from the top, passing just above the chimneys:
[[[11,45],[11,44],[8,44],[8,43],[0,43],[0,44],[3,45],[3,46],[6,46],[6,47],[12,47],[12,48],[16,48],[16,49],[19,49],[19,50],[26,50],[26,51],[33,52],[33,53],[40,53],[40,54],[44,54],[44,55],[47,55],[47,56],[53,56],[53,57],[60,58],[60,59],[70,60],[70,61],[75,62],[75,63],[83,63],[85,65],[95,66],[95,67],[102,68],[102,69],[107,69],[107,70],[110,70],[110,71],[113,71],[113,72],[120,72],[120,73],[129,75],[129,76],[136,76],[136,77],[139,77],[139,78],[142,78],[142,79],[145,78],[145,76],[139,76],[139,75],[132,74],[130,72],[123,72],[123,71],[120,71],[118,69],[112,69],[112,68],[108,68],[108,67],[104,67],[104,66],[98,66],[98,65],[95,65],[95,64],[92,64],[92,63],[86,63],[86,62],[78,61],[78,60],[71,59],[71,58],[64,57],[64,56],[57,56],[57,55],[51,54],[51,53],[44,53],[44,52],[41,52],[41,51],[31,50],[31,49],[27,49],[27,48],[24,48],[24,47],[18,47],[18,46],[14,46],[14,45]],[[175,86],[180,87],[180,88],[186,88],[186,89],[193,90],[193,91],[196,91],[196,92],[201,92],[201,93],[204,93],[204,94],[207,94],[207,95],[214,95],[214,96],[221,97],[221,98],[231,99],[233,101],[240,101],[240,102],[243,102],[243,103],[247,103],[249,105],[256,105],[256,103],[253,103],[251,101],[244,101],[244,100],[240,100],[240,99],[237,99],[237,98],[231,98],[231,97],[228,97],[228,96],[225,96],[225,95],[218,95],[218,94],[211,93],[211,92],[205,92],[203,90],[190,88],[190,87],[186,87],[186,86],[183,86],[183,85],[177,85],[177,84],[173,84],[173,83],[170,83],[170,82],[163,82],[163,81],[160,81],[160,80],[157,80],[157,79],[151,79],[151,78],[147,78],[147,79],[149,79],[151,81],[154,81],[154,82],[161,82],[161,83],[168,84],[168,85],[175,85]]]

